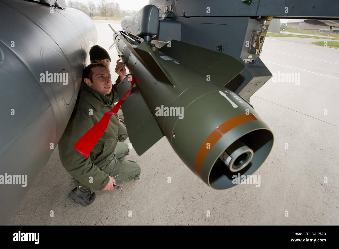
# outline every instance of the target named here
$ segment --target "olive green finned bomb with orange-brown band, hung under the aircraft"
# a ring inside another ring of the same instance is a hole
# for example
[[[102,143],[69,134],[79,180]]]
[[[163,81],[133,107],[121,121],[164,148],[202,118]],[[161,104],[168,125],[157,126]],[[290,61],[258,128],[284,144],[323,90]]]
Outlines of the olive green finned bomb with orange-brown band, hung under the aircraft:
[[[241,62],[176,40],[158,48],[149,35],[146,40],[112,30],[135,79],[122,109],[138,155],[166,136],[187,167],[214,189],[230,188],[235,174],[246,179],[262,165],[273,133],[250,103],[224,87],[245,68]],[[130,86],[126,77],[117,86],[119,96]]]

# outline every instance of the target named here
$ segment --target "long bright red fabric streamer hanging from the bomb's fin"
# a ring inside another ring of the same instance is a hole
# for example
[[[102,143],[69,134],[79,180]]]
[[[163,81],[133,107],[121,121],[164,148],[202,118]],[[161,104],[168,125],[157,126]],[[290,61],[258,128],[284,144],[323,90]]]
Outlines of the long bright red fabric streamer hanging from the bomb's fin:
[[[127,99],[127,97],[131,94],[134,84],[134,78],[132,76],[129,76],[129,81],[131,81],[131,87],[128,89],[128,91],[125,92],[124,96],[122,96],[119,102],[113,107],[112,110],[107,111],[104,116],[99,120],[99,122],[96,123],[91,129],[89,129],[89,131],[87,131],[75,144],[74,148],[81,154],[83,154],[86,158],[88,158],[88,155],[89,153],[91,153],[94,145],[99,141],[102,134],[105,132],[109,123],[109,119],[118,112],[122,102],[124,102],[125,99]]]

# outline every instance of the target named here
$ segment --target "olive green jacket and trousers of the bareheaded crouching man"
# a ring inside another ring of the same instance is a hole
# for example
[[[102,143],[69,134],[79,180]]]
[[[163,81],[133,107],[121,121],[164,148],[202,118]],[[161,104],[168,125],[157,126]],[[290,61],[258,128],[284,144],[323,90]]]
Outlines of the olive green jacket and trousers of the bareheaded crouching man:
[[[104,134],[88,158],[74,148],[76,142],[103,117],[105,112],[111,110],[113,103],[118,100],[115,85],[106,96],[84,85],[58,143],[61,163],[75,179],[76,186],[91,188],[91,192],[94,189],[105,188],[109,182],[109,175],[118,185],[132,179],[137,180],[140,176],[140,167],[136,162],[120,159],[128,155],[129,149],[125,143],[117,142],[120,123],[118,115],[111,117]]]

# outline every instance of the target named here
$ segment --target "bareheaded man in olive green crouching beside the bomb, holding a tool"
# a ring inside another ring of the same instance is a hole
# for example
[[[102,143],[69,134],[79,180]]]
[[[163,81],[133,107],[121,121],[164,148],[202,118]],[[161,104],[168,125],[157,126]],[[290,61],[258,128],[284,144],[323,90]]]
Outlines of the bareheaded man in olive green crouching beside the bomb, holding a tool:
[[[119,101],[111,74],[102,63],[86,66],[83,72],[84,87],[81,88],[77,104],[67,127],[58,143],[62,165],[74,178],[76,187],[68,193],[74,202],[84,206],[92,204],[94,190],[113,190],[113,183],[137,180],[140,167],[134,161],[120,158],[128,155],[125,143],[117,142],[118,115],[113,115],[105,133],[96,143],[88,158],[78,152],[76,142],[91,129]]]

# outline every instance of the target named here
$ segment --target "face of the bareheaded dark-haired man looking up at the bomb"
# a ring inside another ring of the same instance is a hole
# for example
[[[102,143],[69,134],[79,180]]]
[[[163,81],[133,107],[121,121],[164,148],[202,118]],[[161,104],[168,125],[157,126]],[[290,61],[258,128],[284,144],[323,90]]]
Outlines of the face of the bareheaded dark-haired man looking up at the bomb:
[[[109,60],[108,60],[109,61]],[[102,95],[109,94],[112,90],[111,73],[105,67],[93,67],[92,81],[84,79],[86,85],[93,88]]]

